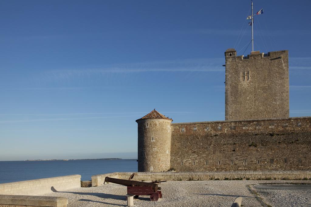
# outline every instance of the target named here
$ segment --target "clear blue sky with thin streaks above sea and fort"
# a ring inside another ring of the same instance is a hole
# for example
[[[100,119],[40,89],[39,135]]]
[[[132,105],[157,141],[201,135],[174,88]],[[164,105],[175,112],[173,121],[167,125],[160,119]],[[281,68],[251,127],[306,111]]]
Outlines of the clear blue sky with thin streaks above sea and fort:
[[[311,2],[261,8],[254,49],[289,50],[290,116],[311,116]],[[154,108],[224,120],[224,52],[250,53],[250,13],[247,0],[1,1],[0,160],[137,158],[135,120]]]

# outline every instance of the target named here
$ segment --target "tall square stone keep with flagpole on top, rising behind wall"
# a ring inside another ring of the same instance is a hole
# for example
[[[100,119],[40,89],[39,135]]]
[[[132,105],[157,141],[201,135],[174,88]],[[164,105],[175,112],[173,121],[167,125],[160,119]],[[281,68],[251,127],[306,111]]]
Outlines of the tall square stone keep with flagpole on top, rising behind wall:
[[[288,51],[225,52],[225,120],[289,117]]]

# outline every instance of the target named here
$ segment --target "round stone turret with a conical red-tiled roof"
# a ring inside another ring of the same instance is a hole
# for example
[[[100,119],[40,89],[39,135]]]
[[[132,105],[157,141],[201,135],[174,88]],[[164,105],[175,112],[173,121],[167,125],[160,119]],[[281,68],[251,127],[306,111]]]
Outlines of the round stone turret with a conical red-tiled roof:
[[[163,172],[170,168],[171,122],[156,110],[138,124],[138,172]]]

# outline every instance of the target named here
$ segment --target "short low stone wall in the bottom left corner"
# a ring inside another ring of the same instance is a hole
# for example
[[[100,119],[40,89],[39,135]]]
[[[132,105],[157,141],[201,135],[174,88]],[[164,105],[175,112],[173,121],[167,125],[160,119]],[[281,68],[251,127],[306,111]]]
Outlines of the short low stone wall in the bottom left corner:
[[[67,207],[68,199],[52,196],[0,195],[0,207]]]

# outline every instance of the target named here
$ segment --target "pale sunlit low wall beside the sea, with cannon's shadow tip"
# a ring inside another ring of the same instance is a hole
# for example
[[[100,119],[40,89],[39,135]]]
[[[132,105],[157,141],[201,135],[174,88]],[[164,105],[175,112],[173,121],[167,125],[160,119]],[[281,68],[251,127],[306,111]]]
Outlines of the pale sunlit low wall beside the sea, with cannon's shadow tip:
[[[26,180],[0,184],[2,195],[37,196],[54,191],[64,191],[81,187],[81,175],[68,175],[54,178]]]

